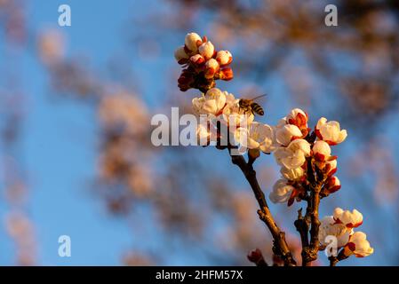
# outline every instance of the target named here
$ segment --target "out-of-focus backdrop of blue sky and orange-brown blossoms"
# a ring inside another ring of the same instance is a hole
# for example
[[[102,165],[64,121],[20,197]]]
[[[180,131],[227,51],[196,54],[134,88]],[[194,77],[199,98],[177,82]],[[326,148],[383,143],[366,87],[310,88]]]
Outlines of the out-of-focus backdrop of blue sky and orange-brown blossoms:
[[[338,27],[324,25],[327,4]],[[253,248],[270,260],[227,152],[150,144],[152,115],[189,113],[198,95],[179,91],[173,58],[191,31],[233,53],[220,89],[267,92],[262,122],[298,106],[347,129],[333,148],[342,188],[320,213],[360,210],[374,254],[339,265],[399,264],[399,2],[0,0],[0,27],[0,264],[250,265]],[[274,159],[255,166],[268,195]],[[297,256],[299,208],[271,205]]]

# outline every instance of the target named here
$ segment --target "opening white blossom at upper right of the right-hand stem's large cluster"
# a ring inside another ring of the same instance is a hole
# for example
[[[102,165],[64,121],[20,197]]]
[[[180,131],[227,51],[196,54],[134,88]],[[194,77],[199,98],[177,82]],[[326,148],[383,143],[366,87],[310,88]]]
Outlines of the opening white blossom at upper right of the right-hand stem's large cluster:
[[[322,117],[315,127],[317,138],[327,142],[329,145],[337,145],[347,138],[347,130],[340,130],[339,122],[327,122]]]

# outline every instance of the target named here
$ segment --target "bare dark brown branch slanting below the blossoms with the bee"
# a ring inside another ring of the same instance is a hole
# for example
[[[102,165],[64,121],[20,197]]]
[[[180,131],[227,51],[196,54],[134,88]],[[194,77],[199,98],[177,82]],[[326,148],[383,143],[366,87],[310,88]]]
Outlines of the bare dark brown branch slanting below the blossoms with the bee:
[[[256,177],[256,171],[253,170],[251,164],[245,162],[242,155],[231,155],[231,161],[237,165],[240,170],[243,171],[243,175],[247,179],[248,183],[251,185],[252,192],[255,195],[256,200],[259,203],[259,218],[267,225],[270,233],[273,236],[273,251],[275,255],[280,256],[285,265],[294,266],[296,265],[295,260],[291,256],[290,248],[285,241],[285,233],[280,230],[280,228],[275,224],[275,220],[272,217],[270,210],[267,206],[267,201],[265,199],[265,194],[261,190],[258,179]]]

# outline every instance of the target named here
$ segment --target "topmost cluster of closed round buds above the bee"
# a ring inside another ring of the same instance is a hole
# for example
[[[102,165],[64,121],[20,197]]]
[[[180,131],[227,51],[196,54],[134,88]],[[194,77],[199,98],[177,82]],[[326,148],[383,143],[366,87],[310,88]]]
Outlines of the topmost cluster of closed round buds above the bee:
[[[233,79],[230,51],[216,51],[206,36],[201,38],[196,33],[187,34],[184,43],[174,52],[175,59],[184,67],[178,79],[180,91],[207,91],[215,86],[215,80]]]

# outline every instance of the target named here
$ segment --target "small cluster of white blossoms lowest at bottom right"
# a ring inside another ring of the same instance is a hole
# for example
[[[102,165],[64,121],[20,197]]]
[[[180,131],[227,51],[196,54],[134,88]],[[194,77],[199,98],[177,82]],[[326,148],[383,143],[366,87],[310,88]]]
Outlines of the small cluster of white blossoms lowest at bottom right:
[[[370,256],[374,249],[371,248],[366,234],[355,232],[355,228],[363,224],[363,215],[356,209],[352,212],[336,208],[332,216],[323,217],[319,231],[319,241],[322,246],[330,242],[328,236],[337,238],[337,247],[343,248],[344,256],[356,257]]]

